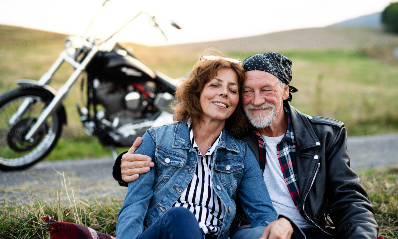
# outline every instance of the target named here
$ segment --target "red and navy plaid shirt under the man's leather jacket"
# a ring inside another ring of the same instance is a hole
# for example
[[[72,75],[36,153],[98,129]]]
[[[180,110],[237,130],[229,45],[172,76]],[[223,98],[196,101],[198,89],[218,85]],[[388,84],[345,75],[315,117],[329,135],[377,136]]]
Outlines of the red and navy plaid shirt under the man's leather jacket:
[[[287,108],[283,107],[287,114],[287,129],[285,136],[277,144],[277,156],[279,159],[279,164],[281,165],[281,170],[283,173],[283,178],[285,178],[285,183],[287,188],[289,189],[290,196],[298,210],[298,212],[305,217],[302,212],[300,212],[301,202],[300,202],[300,194],[298,193],[297,186],[297,176],[296,176],[296,144],[295,144],[295,136],[292,129],[290,113]],[[258,130],[253,131],[255,135],[257,135],[258,139],[258,147],[259,147],[259,156],[260,156],[260,168],[261,172],[264,172],[266,159],[266,151],[265,144],[263,139],[261,138],[261,134]]]

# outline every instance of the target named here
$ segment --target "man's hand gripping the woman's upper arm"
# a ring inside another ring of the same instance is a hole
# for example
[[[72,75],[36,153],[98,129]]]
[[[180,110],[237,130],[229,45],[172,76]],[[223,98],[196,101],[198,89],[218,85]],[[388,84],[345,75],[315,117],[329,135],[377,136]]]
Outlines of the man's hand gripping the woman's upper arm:
[[[125,182],[133,182],[139,178],[139,174],[149,172],[150,167],[154,167],[152,159],[146,155],[133,154],[142,143],[142,138],[137,137],[129,152],[122,156],[120,163],[122,179]]]

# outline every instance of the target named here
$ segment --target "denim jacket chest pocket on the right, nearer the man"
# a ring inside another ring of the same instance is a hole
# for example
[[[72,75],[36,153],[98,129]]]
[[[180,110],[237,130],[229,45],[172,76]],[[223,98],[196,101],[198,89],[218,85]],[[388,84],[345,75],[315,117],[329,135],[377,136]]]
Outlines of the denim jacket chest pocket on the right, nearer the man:
[[[222,185],[231,189],[236,187],[242,168],[243,158],[217,160],[214,166]]]

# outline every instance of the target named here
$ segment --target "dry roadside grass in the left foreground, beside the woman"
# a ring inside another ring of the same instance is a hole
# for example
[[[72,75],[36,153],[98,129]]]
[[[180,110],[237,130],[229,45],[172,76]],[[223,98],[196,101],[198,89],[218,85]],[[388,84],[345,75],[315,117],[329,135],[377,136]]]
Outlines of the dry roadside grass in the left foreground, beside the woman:
[[[114,235],[123,201],[115,198],[89,201],[79,197],[79,192],[70,185],[70,178],[64,177],[62,190],[49,189],[52,196],[47,200],[31,195],[29,203],[4,204],[0,208],[0,238],[49,238],[43,222],[46,215],[54,216],[57,221],[77,223]]]

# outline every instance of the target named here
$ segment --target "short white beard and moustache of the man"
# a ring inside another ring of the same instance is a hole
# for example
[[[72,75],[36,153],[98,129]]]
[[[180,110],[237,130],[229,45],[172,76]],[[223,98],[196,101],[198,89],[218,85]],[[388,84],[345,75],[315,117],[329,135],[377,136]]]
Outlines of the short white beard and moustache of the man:
[[[252,114],[250,110],[259,110],[259,109],[267,109],[271,108],[271,111],[268,113],[261,113],[261,114]],[[271,125],[276,117],[276,110],[275,105],[271,103],[264,103],[260,106],[254,105],[247,105],[245,108],[246,116],[248,117],[250,123],[257,129],[263,129]]]

